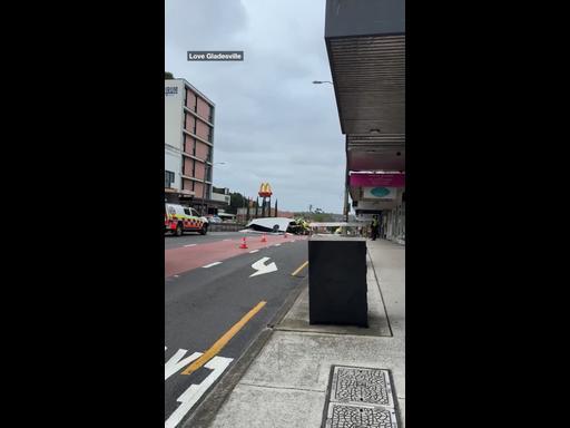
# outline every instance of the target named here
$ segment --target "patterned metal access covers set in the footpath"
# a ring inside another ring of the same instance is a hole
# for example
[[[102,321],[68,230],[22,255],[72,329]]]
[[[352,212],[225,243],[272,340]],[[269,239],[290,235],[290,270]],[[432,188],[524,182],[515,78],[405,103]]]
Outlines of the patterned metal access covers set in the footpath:
[[[390,370],[333,366],[323,428],[397,428]]]

